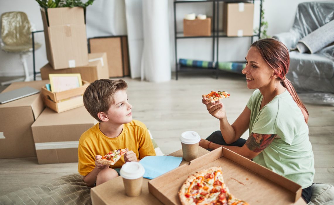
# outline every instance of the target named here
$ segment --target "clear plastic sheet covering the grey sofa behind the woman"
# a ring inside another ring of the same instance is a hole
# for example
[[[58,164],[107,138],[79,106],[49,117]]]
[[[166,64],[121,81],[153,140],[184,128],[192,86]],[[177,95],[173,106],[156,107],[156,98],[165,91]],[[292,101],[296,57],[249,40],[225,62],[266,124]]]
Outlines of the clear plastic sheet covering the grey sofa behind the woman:
[[[273,36],[293,50],[287,78],[305,103],[334,105],[334,42],[314,54],[294,50],[299,40],[332,20],[334,1],[300,3],[290,31]]]

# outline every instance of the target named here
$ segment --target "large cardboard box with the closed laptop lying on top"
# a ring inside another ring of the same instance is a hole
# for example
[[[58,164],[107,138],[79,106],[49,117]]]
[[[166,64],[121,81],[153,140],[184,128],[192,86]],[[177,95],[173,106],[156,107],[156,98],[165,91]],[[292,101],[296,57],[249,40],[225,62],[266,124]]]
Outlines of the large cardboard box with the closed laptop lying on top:
[[[3,92],[24,86],[41,89],[48,80],[13,82]],[[40,93],[0,105],[0,159],[36,156],[31,125],[44,109]]]

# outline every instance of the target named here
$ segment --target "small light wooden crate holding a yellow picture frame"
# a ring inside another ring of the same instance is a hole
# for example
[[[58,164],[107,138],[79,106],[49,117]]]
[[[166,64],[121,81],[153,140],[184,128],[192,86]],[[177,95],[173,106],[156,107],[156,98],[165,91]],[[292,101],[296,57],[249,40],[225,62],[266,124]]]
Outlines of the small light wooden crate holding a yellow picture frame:
[[[82,80],[82,86],[62,92],[51,92],[46,89],[46,86],[43,86],[43,101],[48,108],[56,111],[57,113],[78,108],[83,106],[82,95],[88,85],[89,82]]]

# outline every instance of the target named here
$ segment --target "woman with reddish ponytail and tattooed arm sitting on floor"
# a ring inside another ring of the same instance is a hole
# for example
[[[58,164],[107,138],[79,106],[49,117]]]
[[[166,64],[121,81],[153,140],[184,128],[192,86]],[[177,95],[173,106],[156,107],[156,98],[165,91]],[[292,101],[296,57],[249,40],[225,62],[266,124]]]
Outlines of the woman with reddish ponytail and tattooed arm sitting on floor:
[[[227,121],[220,101],[209,103],[209,113],[219,119],[220,131],[212,133],[200,146],[225,147],[302,186],[302,197],[311,198],[314,158],[307,126],[308,112],[291,82],[286,79],[289,50],[280,41],[267,38],[254,42],[248,50],[247,87],[256,89],[235,122]],[[241,135],[249,128],[249,137]]]

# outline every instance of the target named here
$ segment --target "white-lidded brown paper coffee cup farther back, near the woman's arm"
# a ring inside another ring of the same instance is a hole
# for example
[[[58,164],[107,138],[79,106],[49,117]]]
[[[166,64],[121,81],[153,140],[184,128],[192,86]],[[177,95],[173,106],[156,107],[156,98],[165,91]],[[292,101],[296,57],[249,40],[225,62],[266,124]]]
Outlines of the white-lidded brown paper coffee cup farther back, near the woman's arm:
[[[191,161],[197,158],[198,143],[201,141],[201,137],[194,131],[186,131],[181,134],[180,137],[182,145],[183,159],[185,161]]]

